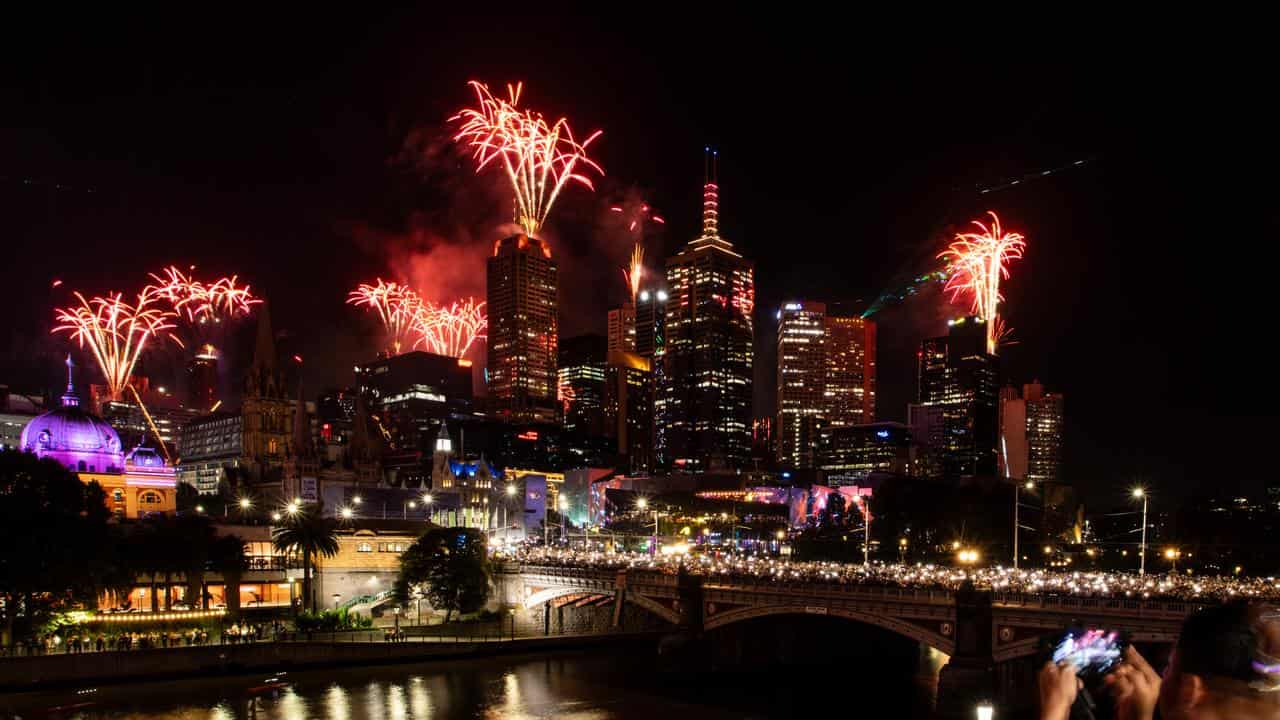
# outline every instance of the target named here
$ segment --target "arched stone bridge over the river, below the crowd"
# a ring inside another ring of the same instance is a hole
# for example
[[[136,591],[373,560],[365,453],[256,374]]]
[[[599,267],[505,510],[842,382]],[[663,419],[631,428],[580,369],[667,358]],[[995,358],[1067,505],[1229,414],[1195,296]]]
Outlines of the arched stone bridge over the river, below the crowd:
[[[974,697],[1010,697],[1034,687],[1032,660],[1048,633],[1093,625],[1123,630],[1138,643],[1171,643],[1183,619],[1202,607],[1165,600],[538,565],[506,568],[500,584],[503,601],[526,609],[530,616],[608,605],[614,626],[623,624],[623,610],[631,606],[695,635],[769,615],[826,615],[884,628],[951,657],[940,678],[940,710],[945,696],[957,696],[964,705]]]

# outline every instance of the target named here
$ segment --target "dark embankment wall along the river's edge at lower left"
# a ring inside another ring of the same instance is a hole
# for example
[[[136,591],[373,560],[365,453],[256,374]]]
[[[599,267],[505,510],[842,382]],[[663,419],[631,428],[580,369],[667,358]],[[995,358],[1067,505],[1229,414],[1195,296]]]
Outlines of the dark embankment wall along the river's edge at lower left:
[[[488,642],[262,642],[8,657],[0,660],[0,692],[648,644],[658,637],[658,633],[617,633]]]

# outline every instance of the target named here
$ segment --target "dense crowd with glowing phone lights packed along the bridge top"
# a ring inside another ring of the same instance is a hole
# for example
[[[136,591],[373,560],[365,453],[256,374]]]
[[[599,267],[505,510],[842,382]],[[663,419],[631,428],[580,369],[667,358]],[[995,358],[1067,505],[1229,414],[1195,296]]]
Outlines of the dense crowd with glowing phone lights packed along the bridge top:
[[[531,565],[685,571],[731,580],[809,582],[957,589],[964,583],[997,592],[1183,601],[1280,600],[1280,578],[1107,573],[925,564],[792,561],[769,556],[649,555],[521,547],[507,559]]]

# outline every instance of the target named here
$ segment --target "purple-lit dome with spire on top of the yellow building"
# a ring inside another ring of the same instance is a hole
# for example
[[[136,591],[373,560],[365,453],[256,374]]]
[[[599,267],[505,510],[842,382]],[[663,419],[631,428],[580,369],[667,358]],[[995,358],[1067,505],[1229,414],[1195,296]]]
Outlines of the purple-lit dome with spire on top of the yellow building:
[[[37,457],[50,457],[73,473],[123,473],[120,436],[97,415],[79,407],[67,357],[67,393],[63,406],[38,415],[22,429],[19,447]]]

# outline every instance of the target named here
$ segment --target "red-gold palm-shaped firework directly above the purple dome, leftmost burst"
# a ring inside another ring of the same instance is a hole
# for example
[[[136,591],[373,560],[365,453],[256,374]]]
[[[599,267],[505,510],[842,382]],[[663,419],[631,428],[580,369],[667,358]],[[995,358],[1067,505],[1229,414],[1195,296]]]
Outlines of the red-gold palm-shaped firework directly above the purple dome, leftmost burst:
[[[81,347],[88,347],[102,370],[111,400],[120,400],[133,377],[133,366],[156,333],[173,328],[178,314],[156,307],[157,296],[143,290],[137,302],[128,302],[122,293],[86,299],[76,293],[79,305],[55,309],[61,323],[54,333],[70,333]]]

